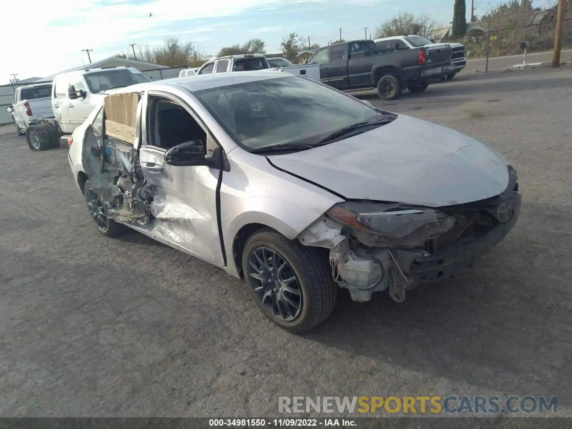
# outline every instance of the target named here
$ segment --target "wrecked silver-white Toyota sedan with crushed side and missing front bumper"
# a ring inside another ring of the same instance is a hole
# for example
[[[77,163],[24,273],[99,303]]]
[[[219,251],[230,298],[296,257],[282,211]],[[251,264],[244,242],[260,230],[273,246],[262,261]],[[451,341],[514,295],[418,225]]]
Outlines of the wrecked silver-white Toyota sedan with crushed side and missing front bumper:
[[[401,302],[470,267],[521,208],[517,173],[482,143],[283,72],[124,88],[69,143],[101,233],[244,277],[293,332],[326,319],[338,287]]]

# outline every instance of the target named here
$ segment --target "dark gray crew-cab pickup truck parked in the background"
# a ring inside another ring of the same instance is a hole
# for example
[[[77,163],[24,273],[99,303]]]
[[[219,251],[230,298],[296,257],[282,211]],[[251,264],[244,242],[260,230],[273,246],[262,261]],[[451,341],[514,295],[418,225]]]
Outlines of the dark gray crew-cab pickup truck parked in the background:
[[[435,77],[455,70],[450,45],[380,49],[372,40],[325,46],[309,62],[320,65],[324,84],[340,90],[377,88],[383,100],[395,100],[405,88],[423,92]]]

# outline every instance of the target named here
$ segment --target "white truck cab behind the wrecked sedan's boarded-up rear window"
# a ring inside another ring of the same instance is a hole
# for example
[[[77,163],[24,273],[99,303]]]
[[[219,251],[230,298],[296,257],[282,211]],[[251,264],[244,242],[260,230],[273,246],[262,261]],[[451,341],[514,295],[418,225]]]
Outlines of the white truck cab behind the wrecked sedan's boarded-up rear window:
[[[152,81],[133,67],[106,67],[58,74],[51,90],[51,108],[62,132],[71,134],[114,89]]]

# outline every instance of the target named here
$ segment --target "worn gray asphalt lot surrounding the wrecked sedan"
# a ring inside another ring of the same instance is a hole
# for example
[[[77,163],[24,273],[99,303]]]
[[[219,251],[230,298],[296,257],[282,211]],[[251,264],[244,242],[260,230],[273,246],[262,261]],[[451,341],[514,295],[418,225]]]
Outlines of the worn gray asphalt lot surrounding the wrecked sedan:
[[[558,395],[571,415],[572,76],[462,76],[375,104],[520,174],[513,232],[458,279],[281,331],[245,285],[138,233],[98,235],[66,148],[0,135],[0,415],[276,416],[279,395]],[[458,426],[456,426],[458,427]]]

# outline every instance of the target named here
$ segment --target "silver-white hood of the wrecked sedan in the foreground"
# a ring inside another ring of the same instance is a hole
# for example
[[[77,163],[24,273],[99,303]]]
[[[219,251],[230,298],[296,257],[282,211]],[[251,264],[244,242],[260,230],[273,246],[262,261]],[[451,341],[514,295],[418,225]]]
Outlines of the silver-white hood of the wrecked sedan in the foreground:
[[[506,161],[486,145],[404,115],[345,140],[268,159],[347,199],[440,207],[484,200],[509,185]]]

